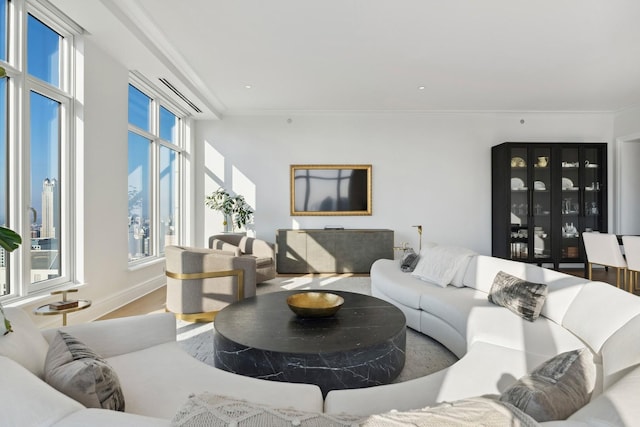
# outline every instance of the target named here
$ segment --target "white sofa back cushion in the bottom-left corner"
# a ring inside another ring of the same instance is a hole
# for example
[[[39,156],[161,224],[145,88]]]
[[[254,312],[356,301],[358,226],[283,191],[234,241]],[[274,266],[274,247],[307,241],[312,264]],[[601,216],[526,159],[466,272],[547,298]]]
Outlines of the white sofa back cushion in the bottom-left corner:
[[[48,426],[84,408],[16,361],[0,356],[0,424]]]

